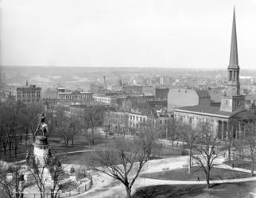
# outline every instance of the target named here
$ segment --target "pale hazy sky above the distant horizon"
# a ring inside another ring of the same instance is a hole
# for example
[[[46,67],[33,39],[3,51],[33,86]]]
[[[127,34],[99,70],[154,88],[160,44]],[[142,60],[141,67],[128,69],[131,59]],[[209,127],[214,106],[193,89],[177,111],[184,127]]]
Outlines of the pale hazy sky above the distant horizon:
[[[2,0],[2,65],[256,68],[256,0]]]

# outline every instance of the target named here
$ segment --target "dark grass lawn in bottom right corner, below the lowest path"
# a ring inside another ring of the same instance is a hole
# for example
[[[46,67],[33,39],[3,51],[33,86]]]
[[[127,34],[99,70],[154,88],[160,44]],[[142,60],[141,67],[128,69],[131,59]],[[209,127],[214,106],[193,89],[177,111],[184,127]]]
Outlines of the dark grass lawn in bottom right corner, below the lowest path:
[[[235,184],[221,184],[210,189],[205,185],[157,185],[138,189],[133,198],[235,198],[253,197],[250,192],[256,192],[256,181]]]

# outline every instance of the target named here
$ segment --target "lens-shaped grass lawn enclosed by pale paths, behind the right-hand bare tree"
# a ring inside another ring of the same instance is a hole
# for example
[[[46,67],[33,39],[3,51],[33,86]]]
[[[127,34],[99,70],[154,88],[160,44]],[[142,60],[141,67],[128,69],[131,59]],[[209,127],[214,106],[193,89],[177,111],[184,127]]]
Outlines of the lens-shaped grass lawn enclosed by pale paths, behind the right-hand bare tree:
[[[178,181],[200,181],[205,180],[205,173],[198,166],[192,167],[191,173],[188,174],[188,168],[173,169],[169,171],[161,171],[157,173],[142,174],[141,177],[161,180],[178,180]],[[250,177],[250,173],[239,172],[231,169],[213,168],[211,170],[211,180],[235,179]]]

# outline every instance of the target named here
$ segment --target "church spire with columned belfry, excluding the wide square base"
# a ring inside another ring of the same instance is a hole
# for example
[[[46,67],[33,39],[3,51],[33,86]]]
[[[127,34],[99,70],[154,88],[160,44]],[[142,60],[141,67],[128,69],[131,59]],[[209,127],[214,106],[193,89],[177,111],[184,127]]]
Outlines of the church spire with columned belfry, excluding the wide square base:
[[[236,22],[235,22],[235,7],[233,13],[232,35],[231,35],[231,55],[229,59],[228,82],[227,82],[227,95],[237,96],[240,95],[240,82],[239,82],[239,53],[236,35]]]

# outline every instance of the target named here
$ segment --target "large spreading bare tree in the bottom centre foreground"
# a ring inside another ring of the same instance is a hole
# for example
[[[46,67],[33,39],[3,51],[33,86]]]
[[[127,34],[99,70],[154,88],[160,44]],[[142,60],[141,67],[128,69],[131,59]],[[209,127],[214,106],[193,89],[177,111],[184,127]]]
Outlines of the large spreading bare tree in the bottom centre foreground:
[[[96,151],[91,162],[95,170],[120,181],[126,188],[126,196],[131,197],[134,181],[149,161],[155,140],[153,128],[143,127],[134,140],[115,139],[106,150]]]

